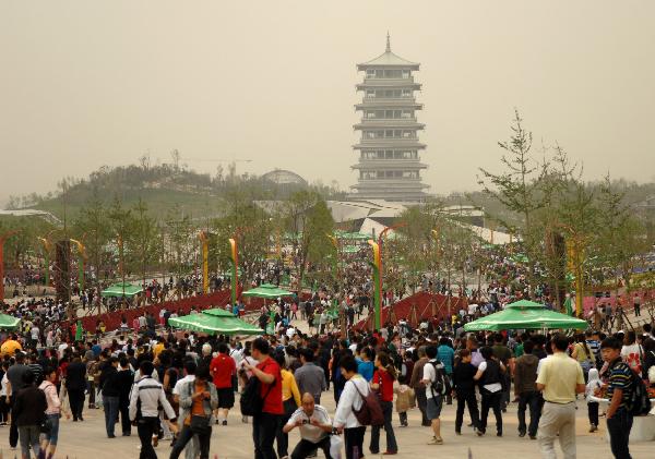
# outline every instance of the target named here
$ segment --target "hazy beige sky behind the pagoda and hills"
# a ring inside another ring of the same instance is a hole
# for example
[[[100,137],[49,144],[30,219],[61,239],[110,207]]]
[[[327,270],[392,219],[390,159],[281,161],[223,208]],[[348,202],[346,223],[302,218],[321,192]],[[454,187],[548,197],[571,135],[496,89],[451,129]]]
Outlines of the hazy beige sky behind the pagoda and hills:
[[[174,148],[348,186],[356,63],[386,31],[421,63],[432,192],[476,189],[514,107],[587,178],[655,180],[654,24],[647,0],[5,0],[0,203]]]

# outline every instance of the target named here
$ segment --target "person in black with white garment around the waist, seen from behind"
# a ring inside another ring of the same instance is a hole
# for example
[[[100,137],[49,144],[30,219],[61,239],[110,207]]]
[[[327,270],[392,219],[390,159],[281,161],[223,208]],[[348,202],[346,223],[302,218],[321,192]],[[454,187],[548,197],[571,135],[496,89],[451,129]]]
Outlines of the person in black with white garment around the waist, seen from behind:
[[[473,377],[480,382],[480,395],[483,396],[483,408],[480,413],[480,428],[477,434],[483,436],[487,433],[487,418],[489,409],[493,410],[496,416],[496,436],[502,436],[502,411],[503,398],[502,379],[505,372],[504,365],[493,357],[493,350],[485,347],[480,350],[485,359],[478,365],[478,371]]]

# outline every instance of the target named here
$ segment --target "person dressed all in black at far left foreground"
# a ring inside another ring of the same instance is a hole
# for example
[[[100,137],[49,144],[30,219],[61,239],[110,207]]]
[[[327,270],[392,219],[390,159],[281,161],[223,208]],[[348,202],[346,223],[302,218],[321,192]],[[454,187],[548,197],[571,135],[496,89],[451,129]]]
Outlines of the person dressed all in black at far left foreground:
[[[35,375],[26,372],[23,375],[23,388],[16,394],[12,416],[19,427],[21,454],[23,459],[29,459],[29,449],[35,457],[40,455],[40,425],[46,418],[48,402],[43,390],[34,385]]]

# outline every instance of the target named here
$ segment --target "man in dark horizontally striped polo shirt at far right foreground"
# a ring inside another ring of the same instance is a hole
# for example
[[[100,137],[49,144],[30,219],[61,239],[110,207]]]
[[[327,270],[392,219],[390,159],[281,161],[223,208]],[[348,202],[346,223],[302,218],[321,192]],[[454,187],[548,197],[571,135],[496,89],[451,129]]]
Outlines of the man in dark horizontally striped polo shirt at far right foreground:
[[[607,384],[607,431],[609,445],[617,459],[629,459],[630,430],[632,428],[632,407],[630,406],[634,391],[633,373],[628,363],[621,359],[622,343],[618,339],[607,338],[600,345],[603,360],[609,364],[606,374]]]

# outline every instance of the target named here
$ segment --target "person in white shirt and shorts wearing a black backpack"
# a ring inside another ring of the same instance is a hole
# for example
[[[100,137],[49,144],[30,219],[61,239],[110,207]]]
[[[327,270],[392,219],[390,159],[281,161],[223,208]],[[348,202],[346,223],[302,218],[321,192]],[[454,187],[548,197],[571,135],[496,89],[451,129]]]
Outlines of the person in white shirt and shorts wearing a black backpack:
[[[437,360],[437,347],[426,349],[428,362],[424,366],[422,383],[426,386],[426,414],[432,425],[433,437],[428,445],[443,445],[441,438],[441,407],[445,394],[450,392],[450,383],[445,375],[445,366]]]

